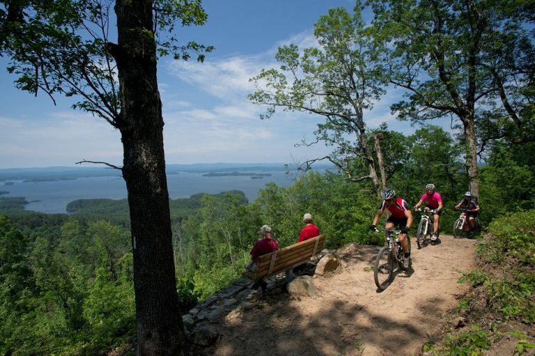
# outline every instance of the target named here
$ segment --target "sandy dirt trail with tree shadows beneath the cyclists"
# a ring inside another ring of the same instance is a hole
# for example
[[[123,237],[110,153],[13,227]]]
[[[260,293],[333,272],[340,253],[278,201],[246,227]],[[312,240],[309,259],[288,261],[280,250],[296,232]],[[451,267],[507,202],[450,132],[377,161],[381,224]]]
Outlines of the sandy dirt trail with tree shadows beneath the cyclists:
[[[284,294],[226,315],[210,355],[419,353],[467,288],[457,280],[473,267],[475,243],[444,235],[439,244],[418,250],[412,238],[412,268],[397,273],[382,292],[372,270],[379,249],[352,245],[341,270],[314,280],[316,298]]]

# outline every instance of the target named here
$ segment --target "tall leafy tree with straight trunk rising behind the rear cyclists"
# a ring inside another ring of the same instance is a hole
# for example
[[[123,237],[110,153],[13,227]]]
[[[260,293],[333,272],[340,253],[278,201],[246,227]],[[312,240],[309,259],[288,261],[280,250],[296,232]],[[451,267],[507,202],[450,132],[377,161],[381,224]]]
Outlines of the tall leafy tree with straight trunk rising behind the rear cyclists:
[[[510,1],[371,1],[378,41],[387,44],[385,61],[391,83],[407,90],[407,101],[391,106],[401,120],[422,122],[451,117],[463,129],[470,188],[479,195],[476,122],[486,108],[483,99],[499,90],[494,70],[497,35],[520,31]],[[532,63],[532,62],[531,62]],[[509,85],[513,76],[500,74]]]

